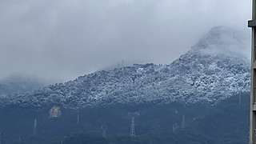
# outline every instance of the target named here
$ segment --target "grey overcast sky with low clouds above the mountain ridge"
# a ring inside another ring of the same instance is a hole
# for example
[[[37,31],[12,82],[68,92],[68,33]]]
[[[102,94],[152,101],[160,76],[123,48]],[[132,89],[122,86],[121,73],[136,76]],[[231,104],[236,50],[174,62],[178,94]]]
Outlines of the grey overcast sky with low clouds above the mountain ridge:
[[[122,59],[166,64],[213,26],[250,34],[249,19],[250,0],[1,0],[0,78],[63,82]]]

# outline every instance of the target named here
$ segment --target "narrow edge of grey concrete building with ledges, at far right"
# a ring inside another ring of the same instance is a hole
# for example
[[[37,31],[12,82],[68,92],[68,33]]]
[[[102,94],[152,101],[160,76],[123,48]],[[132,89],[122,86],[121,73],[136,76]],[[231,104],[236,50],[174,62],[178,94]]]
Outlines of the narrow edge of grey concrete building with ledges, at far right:
[[[251,83],[250,83],[250,144],[256,144],[256,0],[252,1],[252,20],[248,27],[252,28],[251,40]]]

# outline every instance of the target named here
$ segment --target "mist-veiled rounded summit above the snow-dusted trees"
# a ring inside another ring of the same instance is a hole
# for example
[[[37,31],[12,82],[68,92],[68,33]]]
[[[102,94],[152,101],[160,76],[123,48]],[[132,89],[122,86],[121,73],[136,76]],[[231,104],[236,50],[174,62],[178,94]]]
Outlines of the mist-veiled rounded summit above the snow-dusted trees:
[[[243,49],[245,47],[246,35],[242,31],[229,26],[215,26],[192,47],[192,51],[246,58]]]

